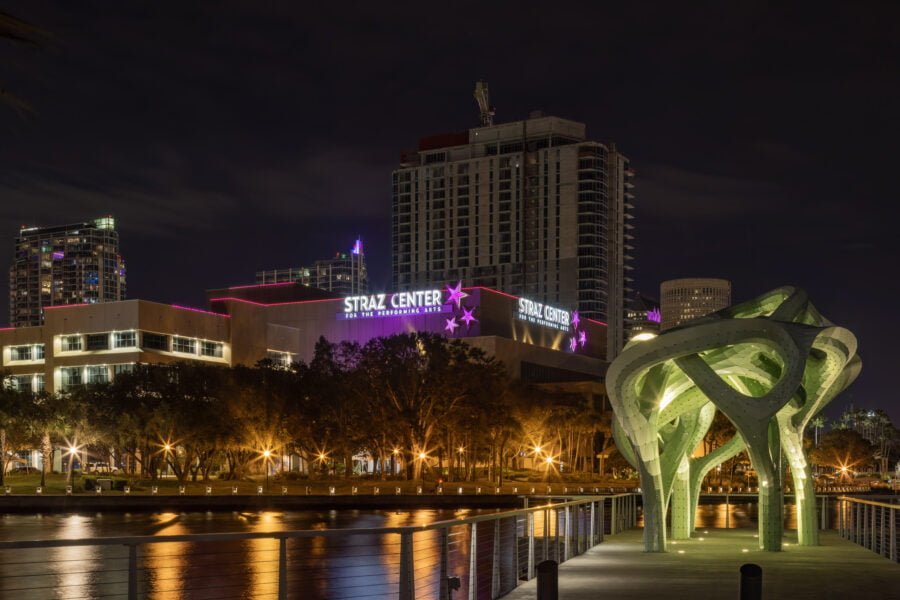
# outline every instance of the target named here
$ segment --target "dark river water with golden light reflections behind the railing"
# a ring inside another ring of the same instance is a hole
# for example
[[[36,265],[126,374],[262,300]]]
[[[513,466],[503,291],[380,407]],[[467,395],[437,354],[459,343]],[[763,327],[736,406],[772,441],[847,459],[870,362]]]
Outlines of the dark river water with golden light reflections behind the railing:
[[[724,502],[701,504],[697,510],[697,526],[701,529],[726,525],[732,528],[755,527],[756,510],[755,502],[730,503],[727,510]],[[398,527],[485,512],[493,511],[418,509],[4,515],[0,517],[0,540]],[[829,510],[829,513],[832,512]],[[536,534],[541,536],[543,523],[539,515],[537,513]],[[792,504],[786,506],[785,516],[785,526],[789,529],[796,527],[796,510]],[[833,516],[829,521],[833,526]],[[552,523],[548,526],[551,530],[554,527]],[[467,570],[471,539],[466,529],[451,531],[451,573]],[[512,524],[511,529],[507,529],[503,533],[504,539],[517,543],[516,525]],[[492,530],[486,529],[482,534],[479,529],[478,547],[482,548],[476,552],[479,563],[484,556],[490,556],[492,543]],[[290,597],[304,600],[396,598],[399,550],[397,535],[290,540],[287,547]],[[417,533],[413,551],[416,597],[436,597],[440,558],[437,534]],[[0,598],[124,598],[127,593],[127,556],[126,549],[121,546],[0,551]],[[274,598],[277,595],[278,557],[279,542],[270,539],[147,544],[141,547],[138,558],[139,590],[141,597],[162,600]],[[519,565],[520,572],[521,568]],[[509,570],[514,569],[510,567]],[[486,592],[489,595],[489,586]]]

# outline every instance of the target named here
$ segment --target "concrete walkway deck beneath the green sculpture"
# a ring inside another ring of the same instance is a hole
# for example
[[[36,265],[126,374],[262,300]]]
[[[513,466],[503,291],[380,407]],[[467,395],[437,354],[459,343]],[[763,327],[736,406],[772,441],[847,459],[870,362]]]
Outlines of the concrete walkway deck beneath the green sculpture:
[[[739,569],[756,563],[763,569],[763,598],[900,600],[900,564],[824,532],[821,546],[796,545],[785,536],[784,552],[761,552],[753,529],[709,529],[690,541],[676,542],[668,553],[645,553],[641,530],[606,541],[560,566],[561,600],[677,600],[738,598]],[[744,551],[746,549],[746,552]],[[504,600],[535,598],[536,580]]]

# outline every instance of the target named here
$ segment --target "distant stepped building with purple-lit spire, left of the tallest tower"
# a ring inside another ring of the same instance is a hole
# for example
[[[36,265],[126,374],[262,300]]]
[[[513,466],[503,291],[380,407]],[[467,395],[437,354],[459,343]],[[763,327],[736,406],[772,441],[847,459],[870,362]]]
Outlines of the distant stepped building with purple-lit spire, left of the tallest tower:
[[[362,240],[356,240],[350,252],[338,252],[332,258],[317,260],[312,267],[258,271],[256,283],[294,282],[342,295],[369,291],[366,256]]]

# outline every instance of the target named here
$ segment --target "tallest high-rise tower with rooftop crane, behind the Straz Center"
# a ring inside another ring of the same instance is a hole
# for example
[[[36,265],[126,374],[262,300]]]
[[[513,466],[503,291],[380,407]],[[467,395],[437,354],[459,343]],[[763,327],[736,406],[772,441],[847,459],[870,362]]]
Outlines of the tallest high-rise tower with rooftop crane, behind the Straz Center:
[[[633,179],[585,125],[529,119],[420,140],[393,173],[397,290],[463,280],[568,306],[625,341]]]

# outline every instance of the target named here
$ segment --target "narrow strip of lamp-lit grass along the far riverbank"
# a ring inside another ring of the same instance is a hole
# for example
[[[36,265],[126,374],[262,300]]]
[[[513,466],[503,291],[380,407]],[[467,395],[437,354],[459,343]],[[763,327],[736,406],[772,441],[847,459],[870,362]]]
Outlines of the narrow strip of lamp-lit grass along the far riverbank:
[[[89,475],[88,477],[104,477],[104,475]],[[423,494],[434,494],[436,492],[436,488],[438,484],[434,480],[427,480],[422,485],[420,480],[417,481],[380,481],[375,479],[365,479],[365,480],[344,480],[344,479],[311,479],[311,480],[299,480],[299,481],[283,481],[277,477],[270,477],[268,482],[268,490],[266,490],[266,481],[262,476],[256,477],[253,480],[249,481],[222,481],[213,479],[207,482],[197,481],[197,482],[185,482],[184,484],[179,484],[176,479],[166,478],[166,479],[158,479],[157,481],[151,481],[149,479],[132,479],[127,477],[117,477],[117,476],[108,476],[110,479],[114,480],[124,480],[125,485],[129,486],[130,493],[132,495],[142,495],[149,496],[152,495],[152,488],[156,487],[156,493],[160,496],[174,496],[179,495],[181,493],[180,487],[183,485],[184,494],[188,496],[203,496],[207,494],[207,488],[209,488],[209,494],[213,496],[225,496],[236,493],[237,495],[255,495],[258,493],[259,487],[263,488],[264,494],[271,495],[328,495],[333,493],[334,495],[351,495],[353,493],[359,495],[374,495],[375,488],[378,488],[378,493],[380,495],[390,495],[396,494],[397,488],[400,488],[400,493],[403,495],[416,494],[418,493],[418,488],[422,488]],[[40,474],[28,474],[28,475],[7,475],[5,487],[10,488],[10,491],[13,495],[27,495],[34,494],[37,487],[40,485],[41,476]],[[66,477],[63,474],[50,474],[47,476],[46,485],[43,487],[42,493],[44,495],[65,495],[66,494]],[[72,493],[73,495],[96,495],[94,490],[85,490],[84,488],[84,476],[78,475],[75,477],[75,481],[72,485]],[[548,487],[552,490],[552,493],[569,493],[569,494],[577,494],[579,493],[579,489],[584,489],[585,492],[592,492],[594,488],[598,488],[601,491],[606,491],[610,487],[614,488],[622,488],[628,487],[631,488],[637,485],[634,481],[622,481],[622,480],[604,480],[604,481],[593,481],[593,482],[549,482],[549,483],[536,483],[536,482],[511,482],[505,483],[499,490],[501,494],[528,494],[532,493],[531,490],[534,488],[534,493],[536,494],[544,494],[548,492]],[[498,488],[495,483],[491,483],[488,481],[481,482],[445,482],[441,484],[442,493],[444,495],[450,494],[458,494],[459,488],[462,488],[463,494],[495,494],[498,493]],[[284,488],[284,489],[283,489]],[[354,492],[355,488],[355,492]],[[235,491],[236,490],[236,491]],[[480,490],[480,491],[479,491]],[[123,491],[105,491],[104,495],[123,495]]]

